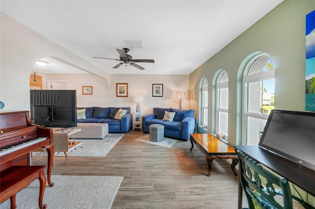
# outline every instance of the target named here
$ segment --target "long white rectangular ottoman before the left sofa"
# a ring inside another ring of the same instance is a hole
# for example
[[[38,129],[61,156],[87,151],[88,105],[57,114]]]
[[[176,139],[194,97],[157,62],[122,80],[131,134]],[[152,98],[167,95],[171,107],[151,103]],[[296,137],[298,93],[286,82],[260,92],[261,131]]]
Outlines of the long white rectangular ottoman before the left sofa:
[[[108,135],[107,123],[77,123],[80,132],[71,135],[71,138],[103,139]]]

